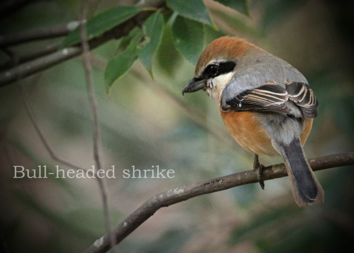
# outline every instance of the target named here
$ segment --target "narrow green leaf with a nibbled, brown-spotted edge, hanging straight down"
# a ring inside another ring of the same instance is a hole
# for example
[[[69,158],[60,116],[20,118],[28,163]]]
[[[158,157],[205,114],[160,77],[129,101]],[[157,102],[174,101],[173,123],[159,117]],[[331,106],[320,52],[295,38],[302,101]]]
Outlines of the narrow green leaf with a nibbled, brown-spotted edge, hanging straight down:
[[[145,41],[139,45],[138,55],[146,70],[148,70],[151,78],[153,78],[152,60],[161,43],[163,23],[164,21],[162,14],[160,12],[156,12],[143,24]]]

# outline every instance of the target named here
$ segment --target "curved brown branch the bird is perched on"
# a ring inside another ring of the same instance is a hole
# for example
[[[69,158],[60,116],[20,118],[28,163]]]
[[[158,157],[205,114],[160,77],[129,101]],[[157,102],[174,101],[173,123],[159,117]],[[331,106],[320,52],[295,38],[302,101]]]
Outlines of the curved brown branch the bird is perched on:
[[[314,171],[334,167],[354,165],[354,152],[345,154],[318,157],[308,160]],[[263,170],[263,179],[271,180],[287,176],[284,163],[265,167]],[[121,242],[132,231],[136,230],[141,224],[150,218],[161,207],[167,207],[187,199],[209,194],[218,191],[224,191],[233,187],[258,183],[257,175],[254,170],[239,172],[227,176],[204,180],[192,185],[183,186],[169,190],[167,192],[156,194],[132,212],[124,221],[122,221],[111,233],[114,233],[116,242]],[[96,240],[85,253],[103,253],[110,249],[110,240],[108,235],[104,235]]]

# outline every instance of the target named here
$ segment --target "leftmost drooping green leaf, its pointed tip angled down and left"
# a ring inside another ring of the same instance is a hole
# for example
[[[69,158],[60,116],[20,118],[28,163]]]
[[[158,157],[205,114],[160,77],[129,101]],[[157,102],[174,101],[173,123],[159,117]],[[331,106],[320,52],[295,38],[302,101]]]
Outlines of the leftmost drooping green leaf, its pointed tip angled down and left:
[[[143,32],[141,31],[130,41],[125,51],[108,62],[105,72],[105,82],[108,92],[114,81],[122,77],[138,59],[137,47],[142,36]]]

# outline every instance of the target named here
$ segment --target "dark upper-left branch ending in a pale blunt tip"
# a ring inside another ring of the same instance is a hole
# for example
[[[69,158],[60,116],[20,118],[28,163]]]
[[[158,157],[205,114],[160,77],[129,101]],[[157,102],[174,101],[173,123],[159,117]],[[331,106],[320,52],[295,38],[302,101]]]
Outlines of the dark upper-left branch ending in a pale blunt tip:
[[[22,31],[18,33],[0,36],[0,48],[14,46],[20,43],[54,39],[67,35],[70,31],[79,25],[79,21],[71,21],[66,24],[41,27],[30,31]]]

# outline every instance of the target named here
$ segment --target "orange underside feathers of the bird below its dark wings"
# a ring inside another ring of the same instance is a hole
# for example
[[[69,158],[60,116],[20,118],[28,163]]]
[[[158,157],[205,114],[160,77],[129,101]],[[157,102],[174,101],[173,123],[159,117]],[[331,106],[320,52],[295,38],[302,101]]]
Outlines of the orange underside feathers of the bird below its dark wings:
[[[252,112],[223,112],[220,110],[226,128],[232,137],[245,150],[268,156],[278,155],[273,148],[272,140],[262,127],[256,113]],[[302,145],[311,131],[313,120],[305,119],[303,131],[300,135]]]

